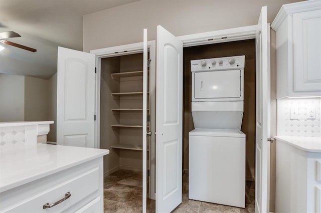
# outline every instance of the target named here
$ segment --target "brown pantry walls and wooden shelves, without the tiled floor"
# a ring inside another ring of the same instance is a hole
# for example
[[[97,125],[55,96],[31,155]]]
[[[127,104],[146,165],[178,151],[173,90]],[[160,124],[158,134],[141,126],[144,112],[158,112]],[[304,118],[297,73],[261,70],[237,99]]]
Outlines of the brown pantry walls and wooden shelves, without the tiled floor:
[[[101,59],[100,147],[111,150],[104,161],[108,174],[142,170],[142,57],[135,53]],[[148,144],[147,137],[147,150]]]

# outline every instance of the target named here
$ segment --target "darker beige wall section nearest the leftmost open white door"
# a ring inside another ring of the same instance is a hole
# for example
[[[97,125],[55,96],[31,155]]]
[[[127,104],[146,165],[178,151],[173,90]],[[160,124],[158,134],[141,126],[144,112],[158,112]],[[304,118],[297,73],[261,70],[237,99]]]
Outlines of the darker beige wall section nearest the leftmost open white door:
[[[48,120],[48,80],[25,76],[24,120]]]

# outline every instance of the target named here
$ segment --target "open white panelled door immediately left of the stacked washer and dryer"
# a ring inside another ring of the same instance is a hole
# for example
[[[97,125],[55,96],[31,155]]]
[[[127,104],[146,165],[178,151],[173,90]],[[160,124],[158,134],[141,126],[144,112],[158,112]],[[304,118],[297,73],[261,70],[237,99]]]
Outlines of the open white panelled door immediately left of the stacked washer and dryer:
[[[183,43],[157,26],[156,212],[182,202]]]

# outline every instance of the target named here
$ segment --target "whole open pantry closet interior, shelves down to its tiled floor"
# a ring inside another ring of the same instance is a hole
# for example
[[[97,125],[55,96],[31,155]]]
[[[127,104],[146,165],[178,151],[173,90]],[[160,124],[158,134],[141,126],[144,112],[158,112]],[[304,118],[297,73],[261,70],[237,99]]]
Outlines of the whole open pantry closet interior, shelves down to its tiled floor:
[[[110,150],[104,157],[105,204],[136,202],[139,206],[142,200],[142,138],[146,136],[142,135],[143,53],[101,58],[100,65],[100,148]],[[147,95],[147,114],[148,106]],[[148,144],[147,137],[147,168]],[[149,183],[147,180],[147,188]]]

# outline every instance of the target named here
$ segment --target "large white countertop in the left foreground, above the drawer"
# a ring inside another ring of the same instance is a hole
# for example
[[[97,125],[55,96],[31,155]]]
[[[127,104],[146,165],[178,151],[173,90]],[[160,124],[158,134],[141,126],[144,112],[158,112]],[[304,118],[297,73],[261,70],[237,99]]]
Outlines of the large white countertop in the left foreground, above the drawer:
[[[0,151],[0,192],[106,155],[108,149],[38,143]]]

